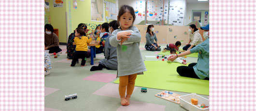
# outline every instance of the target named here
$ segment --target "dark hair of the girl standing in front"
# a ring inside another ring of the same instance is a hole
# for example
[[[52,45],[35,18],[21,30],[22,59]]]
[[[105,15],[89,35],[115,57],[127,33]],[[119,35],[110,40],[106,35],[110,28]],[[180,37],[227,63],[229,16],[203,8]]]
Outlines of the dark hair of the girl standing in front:
[[[118,21],[118,23],[119,23],[120,17],[121,17],[123,14],[125,14],[126,12],[129,12],[129,13],[132,15],[132,17],[133,17],[132,24],[133,24],[134,21],[135,21],[136,16],[135,16],[134,9],[133,9],[131,6],[129,6],[129,5],[123,5],[123,6],[121,6],[121,8],[119,9],[119,13],[118,13],[118,16],[117,16],[117,21]]]

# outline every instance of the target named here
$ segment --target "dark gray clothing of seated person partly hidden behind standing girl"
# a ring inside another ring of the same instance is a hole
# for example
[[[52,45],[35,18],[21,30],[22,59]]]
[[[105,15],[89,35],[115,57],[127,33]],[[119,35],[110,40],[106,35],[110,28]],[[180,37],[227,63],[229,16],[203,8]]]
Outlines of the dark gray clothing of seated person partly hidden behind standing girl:
[[[109,38],[110,36],[106,38],[105,47],[104,47],[105,59],[101,59],[99,63],[109,69],[117,70],[116,47],[113,47],[109,44]]]

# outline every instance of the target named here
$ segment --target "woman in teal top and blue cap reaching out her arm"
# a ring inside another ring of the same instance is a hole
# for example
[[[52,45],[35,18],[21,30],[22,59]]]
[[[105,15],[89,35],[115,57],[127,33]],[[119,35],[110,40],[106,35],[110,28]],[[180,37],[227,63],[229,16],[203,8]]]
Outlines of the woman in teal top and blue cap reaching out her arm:
[[[209,24],[201,29],[208,32],[209,35]],[[198,63],[191,63],[187,66],[179,66],[177,72],[181,76],[209,80],[209,39],[200,43],[193,49],[187,50],[184,53],[178,55],[172,55],[168,60],[174,61],[177,57],[189,55],[192,53],[199,52]]]

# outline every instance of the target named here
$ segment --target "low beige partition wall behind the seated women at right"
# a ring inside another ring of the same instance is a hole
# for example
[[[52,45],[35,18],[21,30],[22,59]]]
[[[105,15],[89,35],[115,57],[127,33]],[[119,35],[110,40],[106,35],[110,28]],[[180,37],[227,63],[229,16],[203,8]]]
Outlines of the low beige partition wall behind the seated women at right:
[[[146,42],[147,25],[134,25],[140,30],[142,35],[141,42]],[[159,43],[175,43],[182,42],[182,45],[188,42],[189,33],[188,26],[154,26],[154,33],[156,34]]]

